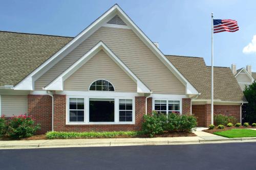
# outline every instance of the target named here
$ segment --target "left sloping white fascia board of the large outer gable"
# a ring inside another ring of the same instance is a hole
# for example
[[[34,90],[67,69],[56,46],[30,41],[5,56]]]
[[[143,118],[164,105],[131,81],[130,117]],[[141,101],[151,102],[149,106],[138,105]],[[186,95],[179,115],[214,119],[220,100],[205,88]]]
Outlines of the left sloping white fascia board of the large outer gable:
[[[14,86],[14,90],[34,90],[34,82],[45,74],[52,66],[59,62],[62,58],[72,52],[75,47],[77,47],[81,42],[86,40],[91,36],[96,30],[98,30],[106,20],[109,20],[111,16],[114,15],[116,11],[116,6],[114,5],[104,14],[102,14],[98,19],[96,19],[90,26],[80,32],[75,38],[63,46],[57,53],[52,57],[42,63],[34,71],[32,71],[25,79],[20,81],[17,85]]]

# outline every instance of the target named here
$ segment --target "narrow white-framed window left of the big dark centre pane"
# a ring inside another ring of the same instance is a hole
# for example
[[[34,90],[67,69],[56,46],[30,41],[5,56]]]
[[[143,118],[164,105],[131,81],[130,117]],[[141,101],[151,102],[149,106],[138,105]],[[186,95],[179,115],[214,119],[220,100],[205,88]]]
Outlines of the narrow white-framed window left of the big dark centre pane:
[[[84,122],[84,99],[69,99],[69,121]]]

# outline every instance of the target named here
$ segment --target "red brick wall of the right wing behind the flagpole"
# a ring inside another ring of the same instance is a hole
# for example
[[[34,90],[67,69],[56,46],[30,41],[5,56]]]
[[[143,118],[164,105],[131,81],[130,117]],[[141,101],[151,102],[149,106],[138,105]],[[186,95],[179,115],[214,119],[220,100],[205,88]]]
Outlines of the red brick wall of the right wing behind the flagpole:
[[[192,114],[197,117],[199,127],[208,127],[211,124],[211,105],[193,105]],[[240,122],[240,106],[214,105],[214,114],[234,116]]]

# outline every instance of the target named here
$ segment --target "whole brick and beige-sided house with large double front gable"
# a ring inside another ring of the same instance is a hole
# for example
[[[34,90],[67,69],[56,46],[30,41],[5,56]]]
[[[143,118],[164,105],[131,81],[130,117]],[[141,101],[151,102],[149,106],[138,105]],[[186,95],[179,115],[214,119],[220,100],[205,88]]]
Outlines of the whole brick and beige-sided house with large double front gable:
[[[39,133],[140,130],[152,110],[210,124],[204,59],[163,55],[118,5],[76,37],[2,31],[0,43],[1,114],[32,115]],[[215,113],[241,121],[230,68],[215,67],[214,79]]]

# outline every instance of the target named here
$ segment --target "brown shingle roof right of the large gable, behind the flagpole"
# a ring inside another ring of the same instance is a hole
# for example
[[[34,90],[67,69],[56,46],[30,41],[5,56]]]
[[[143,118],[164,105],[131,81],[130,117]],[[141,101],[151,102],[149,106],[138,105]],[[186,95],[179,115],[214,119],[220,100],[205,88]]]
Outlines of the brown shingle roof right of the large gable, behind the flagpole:
[[[166,55],[166,58],[201,93],[197,99],[210,99],[211,67],[203,58]],[[239,84],[229,67],[214,67],[214,99],[246,101]]]

